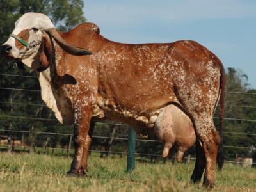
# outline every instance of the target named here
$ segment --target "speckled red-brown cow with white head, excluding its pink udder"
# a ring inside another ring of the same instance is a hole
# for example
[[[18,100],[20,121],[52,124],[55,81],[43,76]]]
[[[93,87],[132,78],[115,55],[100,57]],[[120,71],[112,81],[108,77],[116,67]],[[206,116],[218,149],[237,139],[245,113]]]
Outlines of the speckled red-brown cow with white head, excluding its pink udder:
[[[61,123],[75,125],[68,173],[86,172],[91,118],[152,129],[161,111],[175,104],[191,118],[202,143],[191,180],[200,181],[205,170],[204,184],[213,186],[222,129],[220,136],[212,116],[220,97],[222,125],[225,70],[202,45],[188,40],[121,44],[101,36],[92,23],[63,33],[46,15],[26,13],[15,22],[1,54],[35,70],[45,104]]]

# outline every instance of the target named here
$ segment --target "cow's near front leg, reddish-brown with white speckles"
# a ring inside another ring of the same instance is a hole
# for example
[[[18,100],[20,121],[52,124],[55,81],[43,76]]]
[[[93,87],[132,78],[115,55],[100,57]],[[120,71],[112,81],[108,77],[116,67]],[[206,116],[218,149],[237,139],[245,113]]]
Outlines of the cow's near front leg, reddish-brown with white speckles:
[[[71,164],[69,175],[84,175],[83,150],[86,148],[86,136],[90,127],[91,108],[89,105],[77,104],[74,111],[74,147],[75,154]]]

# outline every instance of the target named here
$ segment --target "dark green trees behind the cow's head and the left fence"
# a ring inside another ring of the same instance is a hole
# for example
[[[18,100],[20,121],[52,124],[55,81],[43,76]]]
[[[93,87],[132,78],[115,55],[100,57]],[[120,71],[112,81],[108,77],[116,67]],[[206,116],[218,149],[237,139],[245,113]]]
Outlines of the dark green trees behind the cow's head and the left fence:
[[[56,28],[66,31],[77,24],[84,22],[82,0],[0,0],[0,44],[3,44],[12,33],[14,23],[21,15],[26,12],[44,13],[50,17]],[[34,118],[54,118],[52,111],[42,104],[40,92],[22,92],[3,88],[20,88],[29,90],[40,90],[38,80],[33,77],[6,76],[3,74],[35,76],[29,68],[20,70],[8,64],[8,60],[0,58],[0,123],[1,129],[13,129],[23,131],[49,131],[49,132],[68,132],[72,129],[63,129],[65,126],[56,122],[44,122],[38,120],[4,118],[4,116],[27,116]],[[61,127],[61,128],[60,128]],[[68,127],[68,126],[66,126]],[[10,132],[1,132],[9,135]],[[20,132],[12,133],[12,136],[22,138]],[[52,146],[60,140],[60,136],[52,139]],[[24,137],[26,143],[43,145],[47,140],[47,135],[37,136],[27,134]],[[54,141],[54,142],[53,142]]]

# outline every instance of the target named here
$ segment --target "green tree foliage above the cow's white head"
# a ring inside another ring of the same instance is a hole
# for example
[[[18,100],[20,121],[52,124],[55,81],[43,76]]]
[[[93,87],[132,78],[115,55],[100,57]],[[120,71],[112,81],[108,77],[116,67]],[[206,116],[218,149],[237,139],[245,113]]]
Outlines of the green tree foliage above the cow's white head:
[[[50,17],[54,26],[68,31],[86,21],[83,6],[81,0],[0,0],[0,43],[6,40],[15,21],[24,13],[44,13]]]

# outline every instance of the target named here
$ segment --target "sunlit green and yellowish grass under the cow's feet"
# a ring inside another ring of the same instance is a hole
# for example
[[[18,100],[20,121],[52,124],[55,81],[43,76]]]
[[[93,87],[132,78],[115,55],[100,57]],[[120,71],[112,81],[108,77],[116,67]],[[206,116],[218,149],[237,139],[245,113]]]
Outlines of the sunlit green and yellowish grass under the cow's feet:
[[[125,158],[92,154],[88,177],[68,177],[71,157],[0,153],[0,191],[205,191],[190,184],[194,163],[136,163],[125,173]],[[255,168],[225,164],[212,191],[256,191]]]

